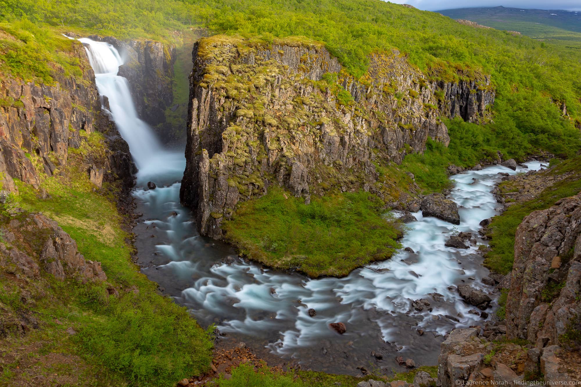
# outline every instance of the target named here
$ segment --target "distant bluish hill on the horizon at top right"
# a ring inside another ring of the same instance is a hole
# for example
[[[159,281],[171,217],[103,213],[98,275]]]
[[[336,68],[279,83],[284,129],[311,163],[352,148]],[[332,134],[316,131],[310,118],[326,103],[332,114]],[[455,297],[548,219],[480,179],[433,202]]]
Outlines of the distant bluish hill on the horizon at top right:
[[[571,41],[581,37],[579,35],[581,34],[581,11],[497,6],[446,9],[439,12],[452,19],[468,19],[498,30],[519,31],[533,38]],[[579,34],[571,34],[569,31]]]

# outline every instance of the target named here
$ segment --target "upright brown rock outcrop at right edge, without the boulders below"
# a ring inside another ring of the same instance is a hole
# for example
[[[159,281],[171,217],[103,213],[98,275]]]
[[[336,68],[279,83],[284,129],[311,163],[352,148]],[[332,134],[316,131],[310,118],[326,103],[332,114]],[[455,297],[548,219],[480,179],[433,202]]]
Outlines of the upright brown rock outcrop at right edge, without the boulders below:
[[[519,225],[507,302],[507,336],[543,348],[564,344],[581,316],[581,195]]]

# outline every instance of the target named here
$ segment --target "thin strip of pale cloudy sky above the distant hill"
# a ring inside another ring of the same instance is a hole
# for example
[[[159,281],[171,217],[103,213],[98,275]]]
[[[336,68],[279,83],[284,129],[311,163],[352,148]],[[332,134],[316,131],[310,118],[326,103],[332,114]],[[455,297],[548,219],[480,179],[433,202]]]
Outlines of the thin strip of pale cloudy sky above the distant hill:
[[[424,10],[440,10],[450,8],[468,8],[481,6],[497,6],[503,5],[505,7],[514,8],[537,8],[537,9],[569,9],[581,10],[581,0],[555,0],[555,1],[541,1],[541,0],[390,0],[394,3],[407,3],[415,6],[415,8]]]

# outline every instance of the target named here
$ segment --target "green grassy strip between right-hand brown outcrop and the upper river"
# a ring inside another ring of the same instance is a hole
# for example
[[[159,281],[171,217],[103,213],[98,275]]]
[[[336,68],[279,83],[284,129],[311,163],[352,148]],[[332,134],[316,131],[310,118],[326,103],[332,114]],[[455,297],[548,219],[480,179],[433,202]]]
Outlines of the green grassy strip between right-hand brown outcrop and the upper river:
[[[528,202],[515,203],[508,207],[500,216],[493,218],[490,224],[492,241],[490,252],[487,253],[485,265],[490,270],[507,274],[512,270],[514,260],[514,235],[523,218],[536,210],[551,207],[562,198],[577,195],[581,191],[581,157],[566,160],[554,169],[544,172],[549,174],[569,173],[564,180],[543,190],[539,197]],[[507,187],[510,182],[502,183],[500,188]]]

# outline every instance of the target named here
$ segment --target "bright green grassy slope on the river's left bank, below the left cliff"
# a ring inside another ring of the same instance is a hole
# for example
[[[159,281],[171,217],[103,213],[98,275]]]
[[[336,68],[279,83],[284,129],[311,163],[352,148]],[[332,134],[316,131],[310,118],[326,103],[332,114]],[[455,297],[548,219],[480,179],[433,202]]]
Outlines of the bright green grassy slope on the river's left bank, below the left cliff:
[[[77,354],[91,367],[98,365],[101,377],[112,385],[174,385],[209,368],[210,335],[184,307],[157,295],[157,285],[132,263],[131,246],[126,242],[129,235],[121,229],[123,218],[113,201],[117,190],[105,185],[94,192],[87,175],[76,167],[88,152],[103,151],[101,136],[90,137],[80,150],[70,151],[66,177],[44,178],[41,185],[49,198],[40,199],[33,188],[19,184],[15,200],[30,212],[58,221],[86,259],[101,261],[108,284],[120,289],[121,296],[109,296],[107,284],[46,278],[51,284],[45,289],[47,295],[33,309],[45,329],[35,335],[54,336],[62,345],[50,347],[49,352]],[[15,286],[6,278],[0,283],[5,291]],[[64,328],[54,318],[79,333],[63,338]],[[34,342],[35,337],[30,340]],[[8,381],[9,371],[5,373]]]

